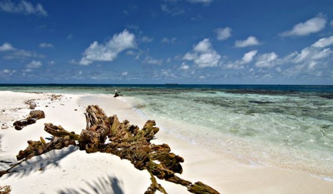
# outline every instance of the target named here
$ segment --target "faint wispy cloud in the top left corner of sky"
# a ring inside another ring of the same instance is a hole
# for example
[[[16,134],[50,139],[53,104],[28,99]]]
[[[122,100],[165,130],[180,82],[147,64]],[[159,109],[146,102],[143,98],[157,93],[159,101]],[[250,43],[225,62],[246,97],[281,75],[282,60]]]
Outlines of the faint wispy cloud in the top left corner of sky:
[[[15,3],[12,1],[0,2],[0,9],[8,13],[18,13],[25,15],[36,14],[47,16],[47,12],[41,4],[34,6],[27,1],[21,1],[20,3]]]

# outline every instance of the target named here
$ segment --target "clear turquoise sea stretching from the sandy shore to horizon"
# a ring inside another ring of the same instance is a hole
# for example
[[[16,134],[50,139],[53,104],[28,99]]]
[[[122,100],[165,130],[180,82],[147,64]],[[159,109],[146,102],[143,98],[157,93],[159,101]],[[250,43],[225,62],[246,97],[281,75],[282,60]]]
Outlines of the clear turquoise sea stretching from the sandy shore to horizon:
[[[105,93],[216,154],[333,180],[333,86],[0,84],[21,92]]]

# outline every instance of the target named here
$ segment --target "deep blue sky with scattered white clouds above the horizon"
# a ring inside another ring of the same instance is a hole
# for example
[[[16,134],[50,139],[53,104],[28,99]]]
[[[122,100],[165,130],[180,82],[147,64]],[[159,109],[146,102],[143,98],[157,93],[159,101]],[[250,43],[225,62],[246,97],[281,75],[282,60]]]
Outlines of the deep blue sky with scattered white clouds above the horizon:
[[[0,83],[333,84],[333,1],[0,0]]]

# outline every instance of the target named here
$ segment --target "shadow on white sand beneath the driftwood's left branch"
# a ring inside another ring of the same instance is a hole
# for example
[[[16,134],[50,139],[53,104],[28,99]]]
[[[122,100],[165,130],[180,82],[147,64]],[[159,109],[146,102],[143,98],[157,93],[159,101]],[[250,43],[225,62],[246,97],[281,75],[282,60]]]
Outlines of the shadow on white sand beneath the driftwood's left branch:
[[[61,150],[51,150],[45,154],[35,156],[34,158],[23,161],[22,164],[16,166],[6,176],[23,177],[28,176],[31,172],[42,171],[46,168],[58,168],[59,161],[69,154],[77,151],[76,146],[69,146]]]

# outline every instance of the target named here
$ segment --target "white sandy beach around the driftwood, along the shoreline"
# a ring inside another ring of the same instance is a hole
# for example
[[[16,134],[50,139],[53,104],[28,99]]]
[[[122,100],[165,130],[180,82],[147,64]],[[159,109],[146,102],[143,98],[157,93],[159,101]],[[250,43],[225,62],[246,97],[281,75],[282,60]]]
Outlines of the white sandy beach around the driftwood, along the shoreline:
[[[51,101],[48,94],[0,91],[0,159],[15,163],[16,154],[27,140],[50,137],[44,123],[61,125],[80,134],[85,128],[85,107],[99,105],[108,116],[117,114],[142,127],[146,122],[128,103],[110,95],[64,94]],[[29,113],[25,100],[38,102],[46,118],[16,131],[13,120]],[[6,103],[4,103],[6,102]],[[48,106],[48,107],[46,107]],[[17,109],[19,108],[19,109]],[[3,111],[5,110],[5,111]],[[158,121],[156,121],[158,126]],[[6,128],[4,127],[4,128]],[[172,152],[184,157],[181,178],[202,181],[222,193],[330,193],[333,181],[324,181],[303,172],[277,167],[247,166],[170,136],[161,130],[153,143],[167,143]],[[150,184],[149,174],[135,169],[129,161],[102,153],[86,154],[69,147],[34,157],[15,173],[0,178],[0,186],[11,185],[12,193],[143,193]],[[1,170],[8,167],[0,163]],[[189,193],[182,186],[158,180],[169,193]]]

